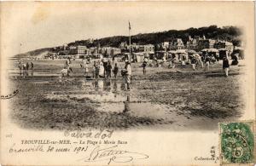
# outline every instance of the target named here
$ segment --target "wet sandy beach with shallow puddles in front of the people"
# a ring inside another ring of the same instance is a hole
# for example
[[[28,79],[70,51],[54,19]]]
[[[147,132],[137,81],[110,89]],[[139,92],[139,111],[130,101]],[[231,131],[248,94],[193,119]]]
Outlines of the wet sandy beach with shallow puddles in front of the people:
[[[127,91],[120,76],[86,79],[79,62],[73,63],[71,77],[60,78],[61,63],[35,61],[33,75],[30,71],[27,77],[10,70],[20,92],[11,99],[10,116],[20,127],[215,130],[218,122],[242,115],[244,103],[238,93],[242,66],[232,66],[230,77],[224,77],[221,64],[208,72],[201,68],[194,72],[191,66],[148,67],[146,75],[140,64],[132,64]]]

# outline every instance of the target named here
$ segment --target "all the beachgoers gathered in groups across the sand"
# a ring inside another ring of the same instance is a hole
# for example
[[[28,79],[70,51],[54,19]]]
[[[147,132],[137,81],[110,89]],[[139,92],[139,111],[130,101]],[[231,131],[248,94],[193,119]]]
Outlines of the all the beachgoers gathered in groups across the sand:
[[[223,70],[224,70],[224,76],[229,76],[229,69],[230,65],[237,65],[238,60],[236,56],[232,56],[232,63],[230,64],[228,56],[223,57]],[[218,59],[219,60],[219,59]],[[196,68],[199,66],[202,70],[208,71],[210,64],[215,63],[218,61],[217,59],[212,60],[212,56],[205,54],[189,54],[184,55],[181,54],[179,56],[171,56],[166,60],[162,60],[160,63],[169,63],[168,67],[175,68],[175,66],[180,63],[181,66],[190,65],[192,66],[192,70],[195,71]],[[147,66],[152,66],[152,61],[155,62],[155,66],[160,66],[159,60],[153,59],[148,60],[148,58],[145,58],[142,62],[143,67],[143,74],[145,75],[147,72]],[[125,60],[125,66],[120,66],[114,59],[101,59],[101,60],[93,60],[92,68],[90,67],[91,60],[82,60],[80,63],[80,67],[84,71],[84,77],[92,77],[95,79],[98,78],[117,78],[118,74],[120,73],[121,76],[125,80],[125,84],[127,84],[127,89],[130,89],[130,83],[131,83],[131,61]],[[64,67],[61,70],[61,77],[64,76],[70,76],[70,74],[73,72],[72,68],[72,60],[68,58],[65,60]],[[19,68],[20,68],[20,74],[23,74],[24,76],[27,75],[28,70],[32,70],[34,68],[34,65],[32,62],[26,62],[22,63],[21,60],[19,60]],[[121,70],[119,69],[121,68]],[[113,74],[112,74],[113,73]]]

